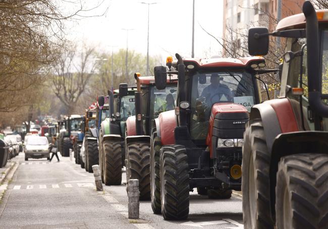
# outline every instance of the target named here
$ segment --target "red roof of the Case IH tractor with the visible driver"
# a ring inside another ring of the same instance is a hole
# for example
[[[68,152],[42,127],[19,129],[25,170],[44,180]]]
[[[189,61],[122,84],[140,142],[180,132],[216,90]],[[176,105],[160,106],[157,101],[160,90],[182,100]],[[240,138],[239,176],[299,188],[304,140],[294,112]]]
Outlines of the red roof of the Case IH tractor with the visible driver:
[[[207,67],[247,67],[252,62],[263,62],[264,58],[259,56],[239,57],[239,58],[185,58],[183,62],[186,66],[189,64],[196,65],[196,68]]]

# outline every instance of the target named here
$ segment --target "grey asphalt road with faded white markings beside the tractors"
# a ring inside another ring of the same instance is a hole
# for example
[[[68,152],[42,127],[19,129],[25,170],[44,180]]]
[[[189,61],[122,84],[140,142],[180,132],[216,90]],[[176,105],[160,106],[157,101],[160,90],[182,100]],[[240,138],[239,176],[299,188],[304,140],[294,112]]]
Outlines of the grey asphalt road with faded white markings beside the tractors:
[[[125,185],[96,191],[93,174],[69,158],[24,161],[0,202],[0,228],[243,228],[239,198],[210,200],[191,194],[186,221],[165,221],[140,202],[140,218],[128,219]],[[125,182],[125,173],[122,174]]]

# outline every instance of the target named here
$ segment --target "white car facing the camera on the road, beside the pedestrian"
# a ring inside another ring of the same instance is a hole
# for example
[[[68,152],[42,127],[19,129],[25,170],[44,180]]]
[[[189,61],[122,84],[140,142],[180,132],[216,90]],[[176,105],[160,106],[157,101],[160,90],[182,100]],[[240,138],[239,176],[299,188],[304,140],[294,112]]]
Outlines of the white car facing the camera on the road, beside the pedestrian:
[[[28,161],[29,158],[50,159],[49,143],[47,137],[28,137],[27,142],[25,143],[25,161]]]

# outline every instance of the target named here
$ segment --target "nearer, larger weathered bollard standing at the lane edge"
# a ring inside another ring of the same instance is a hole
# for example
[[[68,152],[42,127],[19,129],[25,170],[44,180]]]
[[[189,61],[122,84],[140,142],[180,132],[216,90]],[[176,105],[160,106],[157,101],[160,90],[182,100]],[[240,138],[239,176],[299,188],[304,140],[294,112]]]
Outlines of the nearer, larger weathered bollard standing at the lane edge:
[[[139,180],[130,179],[128,182],[129,218],[139,218]]]

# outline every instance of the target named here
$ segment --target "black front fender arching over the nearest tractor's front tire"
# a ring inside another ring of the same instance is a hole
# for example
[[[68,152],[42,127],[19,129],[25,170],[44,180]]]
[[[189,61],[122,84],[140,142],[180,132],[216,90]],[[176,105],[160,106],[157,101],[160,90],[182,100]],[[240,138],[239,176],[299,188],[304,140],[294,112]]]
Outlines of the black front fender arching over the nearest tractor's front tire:
[[[270,206],[275,212],[276,181],[280,159],[294,154],[328,154],[328,132],[298,131],[279,134],[272,145],[270,160]]]

